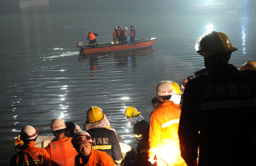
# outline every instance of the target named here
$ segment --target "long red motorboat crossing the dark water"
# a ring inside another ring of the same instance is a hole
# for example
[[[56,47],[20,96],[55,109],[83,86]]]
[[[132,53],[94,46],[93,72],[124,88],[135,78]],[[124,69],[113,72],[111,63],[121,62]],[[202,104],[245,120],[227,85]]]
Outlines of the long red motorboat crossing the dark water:
[[[106,52],[116,52],[116,51],[127,51],[134,49],[142,49],[152,46],[157,38],[148,39],[136,39],[135,42],[127,42],[123,44],[114,45],[112,43],[98,44],[95,48],[90,48],[85,46],[83,42],[78,42],[77,47],[79,48],[80,55],[84,54],[94,54],[94,53],[106,53]]]

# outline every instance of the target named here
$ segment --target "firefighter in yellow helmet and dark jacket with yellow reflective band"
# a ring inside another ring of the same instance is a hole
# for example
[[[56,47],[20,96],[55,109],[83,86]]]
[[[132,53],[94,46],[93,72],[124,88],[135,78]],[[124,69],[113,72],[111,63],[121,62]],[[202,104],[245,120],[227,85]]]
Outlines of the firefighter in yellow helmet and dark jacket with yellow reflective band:
[[[116,165],[120,165],[122,153],[118,137],[115,131],[110,129],[108,118],[106,118],[101,108],[92,106],[88,109],[85,126],[90,126],[87,127],[87,132],[92,137],[93,149],[106,152],[113,158]]]

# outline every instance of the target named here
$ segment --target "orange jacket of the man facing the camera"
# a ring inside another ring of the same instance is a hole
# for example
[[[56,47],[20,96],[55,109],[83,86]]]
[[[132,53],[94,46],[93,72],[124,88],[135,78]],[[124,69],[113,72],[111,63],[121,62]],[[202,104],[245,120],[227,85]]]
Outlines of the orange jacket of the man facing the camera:
[[[115,163],[114,161],[112,160],[112,158],[106,154],[105,152],[101,152],[101,151],[98,151],[98,150],[93,150],[92,149],[92,152],[91,152],[91,155],[90,155],[90,158],[86,163],[82,163],[82,159],[81,159],[81,155],[78,154],[76,157],[75,157],[75,164],[76,166],[78,165],[88,165],[88,166],[91,166],[91,165],[102,165],[102,166],[114,166]]]

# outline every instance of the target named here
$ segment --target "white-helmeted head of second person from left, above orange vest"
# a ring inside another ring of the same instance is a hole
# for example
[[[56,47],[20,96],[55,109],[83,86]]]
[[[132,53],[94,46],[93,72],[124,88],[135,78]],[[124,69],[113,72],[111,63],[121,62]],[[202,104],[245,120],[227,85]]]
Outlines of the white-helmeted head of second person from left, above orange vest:
[[[65,137],[66,124],[61,118],[55,118],[51,122],[51,131],[57,139]]]

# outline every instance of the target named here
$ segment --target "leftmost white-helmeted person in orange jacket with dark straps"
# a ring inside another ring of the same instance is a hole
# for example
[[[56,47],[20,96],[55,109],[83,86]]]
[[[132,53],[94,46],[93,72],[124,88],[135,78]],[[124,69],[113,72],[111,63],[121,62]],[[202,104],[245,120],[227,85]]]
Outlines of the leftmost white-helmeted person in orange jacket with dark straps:
[[[10,165],[52,165],[47,150],[34,147],[36,137],[37,131],[33,126],[25,126],[20,131],[20,139],[24,145],[12,156]]]

